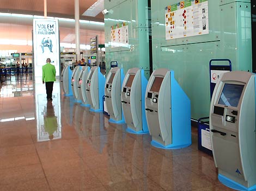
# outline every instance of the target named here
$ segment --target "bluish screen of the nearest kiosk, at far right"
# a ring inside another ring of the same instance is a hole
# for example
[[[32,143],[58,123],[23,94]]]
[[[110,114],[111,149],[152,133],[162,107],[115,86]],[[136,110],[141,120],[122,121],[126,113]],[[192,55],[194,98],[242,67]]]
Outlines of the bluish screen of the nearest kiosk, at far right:
[[[237,107],[243,91],[243,86],[244,85],[240,84],[224,84],[218,104]]]

